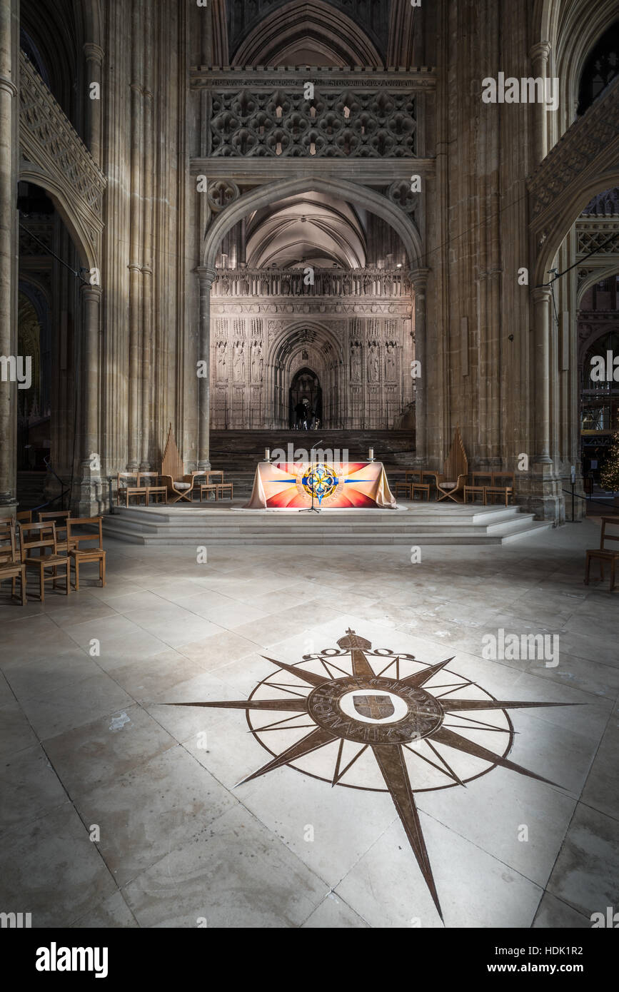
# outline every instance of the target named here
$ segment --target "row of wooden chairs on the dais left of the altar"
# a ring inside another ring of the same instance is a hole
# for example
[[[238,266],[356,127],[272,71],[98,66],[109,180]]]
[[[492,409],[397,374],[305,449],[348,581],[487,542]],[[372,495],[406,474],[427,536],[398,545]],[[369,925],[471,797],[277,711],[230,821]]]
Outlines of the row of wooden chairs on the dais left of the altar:
[[[151,496],[155,498],[155,502],[163,501],[166,504],[178,503],[182,499],[191,503],[193,494],[196,493],[199,493],[200,503],[211,493],[216,500],[226,495],[232,499],[233,483],[224,482],[223,471],[215,468],[193,471],[182,480],[173,479],[172,476],[162,475],[160,472],[118,472],[116,485],[118,506],[124,502],[128,507],[130,499],[136,499],[139,503],[142,498],[145,505],[149,506]]]

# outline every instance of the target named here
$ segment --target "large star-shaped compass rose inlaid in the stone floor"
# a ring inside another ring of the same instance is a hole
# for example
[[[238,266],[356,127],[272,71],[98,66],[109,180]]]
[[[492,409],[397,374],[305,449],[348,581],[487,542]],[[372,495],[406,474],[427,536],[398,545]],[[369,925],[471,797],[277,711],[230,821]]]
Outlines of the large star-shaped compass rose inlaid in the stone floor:
[[[271,760],[239,785],[288,766],[331,786],[388,792],[442,920],[415,793],[464,787],[497,766],[556,785],[508,759],[507,710],[574,703],[496,699],[447,669],[452,658],[429,665],[370,651],[350,629],[337,645],[295,665],[263,656],[276,671],[248,699],[172,705],[245,710]]]

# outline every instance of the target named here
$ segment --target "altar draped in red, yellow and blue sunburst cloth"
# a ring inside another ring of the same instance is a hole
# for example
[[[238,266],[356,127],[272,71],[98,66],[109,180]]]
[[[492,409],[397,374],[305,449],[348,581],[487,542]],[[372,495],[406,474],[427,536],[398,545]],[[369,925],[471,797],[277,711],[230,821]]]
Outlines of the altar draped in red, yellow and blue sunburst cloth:
[[[382,461],[261,461],[246,510],[397,509]]]

